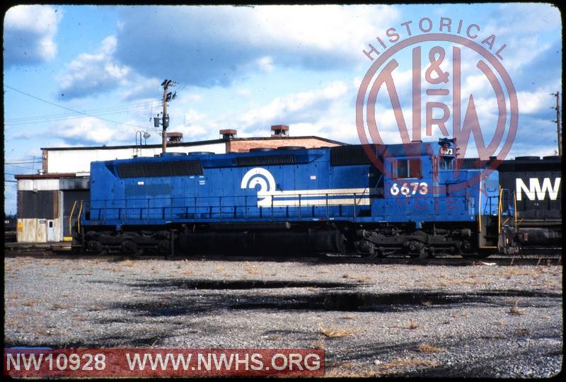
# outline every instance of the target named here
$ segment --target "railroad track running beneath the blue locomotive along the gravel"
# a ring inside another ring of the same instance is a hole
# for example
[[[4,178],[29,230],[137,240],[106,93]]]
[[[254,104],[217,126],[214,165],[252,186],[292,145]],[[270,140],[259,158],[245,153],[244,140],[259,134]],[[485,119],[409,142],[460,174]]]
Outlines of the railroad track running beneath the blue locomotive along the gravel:
[[[102,259],[108,261],[132,260],[163,260],[165,255],[122,255],[122,254],[92,254],[79,250],[61,247],[21,246],[18,248],[5,248],[5,257],[35,257],[60,259]],[[250,256],[250,255],[175,255],[171,260],[216,260],[216,261],[276,261],[276,262],[311,262],[313,264],[405,264],[405,265],[562,265],[562,252],[555,250],[552,253],[524,254],[516,256],[492,255],[487,258],[463,258],[456,256],[437,256],[428,259],[411,258],[408,256],[391,256],[376,259],[366,259],[359,256],[321,255],[321,256]]]

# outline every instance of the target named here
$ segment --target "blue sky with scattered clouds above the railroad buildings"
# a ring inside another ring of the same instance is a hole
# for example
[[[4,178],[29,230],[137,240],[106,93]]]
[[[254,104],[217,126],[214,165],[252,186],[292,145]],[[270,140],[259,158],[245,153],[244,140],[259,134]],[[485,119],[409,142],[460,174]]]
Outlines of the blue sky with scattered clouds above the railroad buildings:
[[[265,137],[270,125],[286,124],[295,136],[357,143],[355,99],[371,65],[362,50],[422,17],[435,28],[441,17],[475,23],[478,40],[494,34],[495,46],[507,45],[502,63],[520,113],[509,156],[553,155],[562,24],[548,4],[17,6],[4,17],[6,180],[36,173],[41,147],[134,144],[140,129],[157,144],[150,118],[161,110],[163,79],[177,81],[170,131],[185,141],[215,139],[224,128]],[[401,84],[410,78],[404,54],[394,77]],[[492,99],[472,69],[463,89],[487,126]],[[398,90],[410,110],[409,89]],[[393,122],[383,112],[389,141]],[[5,210],[15,212],[16,183],[4,185]]]

